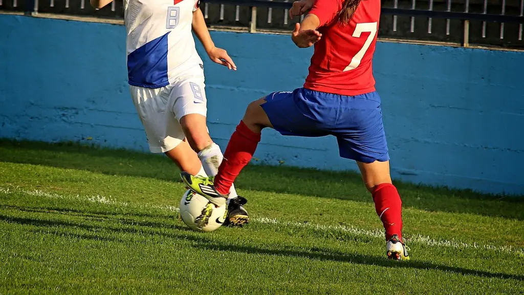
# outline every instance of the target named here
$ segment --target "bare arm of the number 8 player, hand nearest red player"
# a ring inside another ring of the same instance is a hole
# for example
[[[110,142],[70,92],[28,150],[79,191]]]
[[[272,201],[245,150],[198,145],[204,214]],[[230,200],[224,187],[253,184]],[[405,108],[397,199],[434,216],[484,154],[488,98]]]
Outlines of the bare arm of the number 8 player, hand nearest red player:
[[[205,25],[204,15],[200,8],[193,12],[193,31],[196,37],[199,38],[200,42],[204,46],[205,52],[208,53],[209,58],[217,64],[226,66],[228,69],[236,71],[236,65],[233,59],[227,54],[222,48],[218,48],[213,43],[211,35],[209,35],[208,27]]]

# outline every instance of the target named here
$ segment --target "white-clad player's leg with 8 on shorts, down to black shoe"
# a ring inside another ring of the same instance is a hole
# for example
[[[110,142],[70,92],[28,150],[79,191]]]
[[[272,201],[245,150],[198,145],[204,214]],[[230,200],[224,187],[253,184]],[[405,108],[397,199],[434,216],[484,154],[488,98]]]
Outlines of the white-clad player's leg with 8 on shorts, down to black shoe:
[[[213,177],[223,159],[220,146],[213,142],[206,123],[206,97],[204,78],[189,77],[176,85],[170,101],[174,115],[179,118],[180,126],[191,149],[197,153],[207,175]],[[247,210],[243,207],[246,199],[238,196],[234,185],[228,194],[228,224],[243,225],[248,223]]]

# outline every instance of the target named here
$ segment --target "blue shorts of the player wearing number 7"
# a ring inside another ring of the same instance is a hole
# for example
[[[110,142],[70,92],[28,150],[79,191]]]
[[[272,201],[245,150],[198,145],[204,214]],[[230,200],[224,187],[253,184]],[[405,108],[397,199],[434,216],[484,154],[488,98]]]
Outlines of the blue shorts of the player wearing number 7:
[[[341,157],[363,163],[389,160],[376,91],[342,96],[298,88],[269,94],[261,107],[282,135],[333,135]]]

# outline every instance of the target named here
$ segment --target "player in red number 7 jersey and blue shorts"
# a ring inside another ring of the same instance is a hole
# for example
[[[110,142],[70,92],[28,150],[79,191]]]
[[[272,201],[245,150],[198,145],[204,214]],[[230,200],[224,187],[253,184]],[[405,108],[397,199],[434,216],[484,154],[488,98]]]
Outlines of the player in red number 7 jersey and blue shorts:
[[[236,176],[252,159],[262,129],[269,127],[290,136],[333,135],[340,156],[357,162],[373,195],[386,230],[387,256],[409,259],[402,240],[402,203],[391,183],[372,71],[380,0],[305,0],[293,4],[291,15],[310,7],[291,34],[300,48],[314,44],[304,87],[274,92],[250,103],[214,179],[182,172],[182,180],[195,193],[223,205]]]

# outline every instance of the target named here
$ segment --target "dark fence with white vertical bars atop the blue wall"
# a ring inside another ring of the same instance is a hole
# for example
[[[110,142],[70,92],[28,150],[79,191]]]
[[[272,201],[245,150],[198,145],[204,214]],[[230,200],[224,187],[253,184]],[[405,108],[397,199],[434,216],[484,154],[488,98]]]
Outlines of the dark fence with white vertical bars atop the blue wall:
[[[213,26],[290,30],[292,0],[203,0]],[[524,0],[383,0],[379,36],[524,49]],[[122,1],[95,10],[89,0],[0,0],[0,10],[120,18]]]

